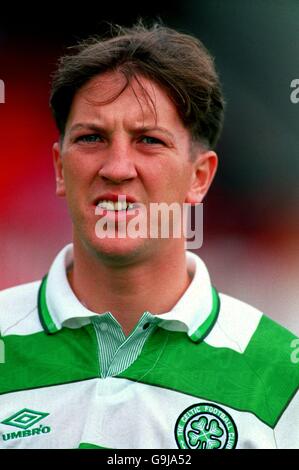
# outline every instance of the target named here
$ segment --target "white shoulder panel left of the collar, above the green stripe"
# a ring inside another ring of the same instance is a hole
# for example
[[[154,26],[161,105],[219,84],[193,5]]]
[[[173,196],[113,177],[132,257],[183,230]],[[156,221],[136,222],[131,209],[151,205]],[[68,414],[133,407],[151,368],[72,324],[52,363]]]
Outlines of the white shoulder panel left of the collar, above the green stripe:
[[[25,329],[40,327],[37,297],[40,281],[0,291],[0,334],[26,334]],[[26,327],[24,327],[26,320]],[[33,324],[32,324],[33,320]]]

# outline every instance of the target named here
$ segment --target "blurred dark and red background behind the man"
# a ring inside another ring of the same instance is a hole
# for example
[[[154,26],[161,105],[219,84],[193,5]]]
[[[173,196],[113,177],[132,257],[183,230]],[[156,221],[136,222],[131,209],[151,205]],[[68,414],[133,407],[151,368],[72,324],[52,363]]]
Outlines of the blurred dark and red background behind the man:
[[[299,334],[299,103],[290,100],[299,79],[299,1],[109,5],[0,7],[0,289],[40,279],[71,240],[52,169],[57,132],[48,98],[58,57],[106,31],[107,21],[161,18],[204,42],[227,102],[198,253],[219,291]]]

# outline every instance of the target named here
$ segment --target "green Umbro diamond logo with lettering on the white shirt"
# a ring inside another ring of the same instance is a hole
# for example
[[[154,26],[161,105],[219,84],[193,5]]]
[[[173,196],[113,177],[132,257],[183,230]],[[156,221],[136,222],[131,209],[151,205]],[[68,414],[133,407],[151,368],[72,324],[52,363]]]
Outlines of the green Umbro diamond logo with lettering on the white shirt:
[[[23,431],[2,434],[2,439],[4,441],[8,441],[11,439],[19,439],[21,437],[48,434],[49,432],[51,432],[51,428],[49,426],[43,426],[42,424],[40,424],[39,426],[33,428],[35,424],[37,424],[39,421],[46,418],[47,416],[49,416],[49,413],[35,411],[29,408],[23,408],[17,413],[1,421],[1,423],[5,424],[6,426],[14,426],[17,428],[21,428]]]

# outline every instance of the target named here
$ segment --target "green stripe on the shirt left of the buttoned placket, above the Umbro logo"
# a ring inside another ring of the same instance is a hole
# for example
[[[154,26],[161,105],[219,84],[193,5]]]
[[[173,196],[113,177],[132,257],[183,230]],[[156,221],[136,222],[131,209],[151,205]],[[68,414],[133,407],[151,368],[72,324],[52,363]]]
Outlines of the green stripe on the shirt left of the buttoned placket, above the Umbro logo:
[[[100,376],[92,325],[63,328],[56,335],[39,332],[3,338],[0,393],[87,380]]]

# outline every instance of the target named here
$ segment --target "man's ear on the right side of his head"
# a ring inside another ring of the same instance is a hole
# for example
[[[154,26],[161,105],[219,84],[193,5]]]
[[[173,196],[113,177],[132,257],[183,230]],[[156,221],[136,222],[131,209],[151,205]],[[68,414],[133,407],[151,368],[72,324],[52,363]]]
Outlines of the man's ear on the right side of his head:
[[[213,150],[198,151],[193,162],[190,189],[185,202],[202,202],[213,181],[218,166],[218,157]]]

